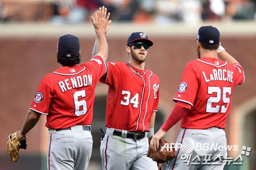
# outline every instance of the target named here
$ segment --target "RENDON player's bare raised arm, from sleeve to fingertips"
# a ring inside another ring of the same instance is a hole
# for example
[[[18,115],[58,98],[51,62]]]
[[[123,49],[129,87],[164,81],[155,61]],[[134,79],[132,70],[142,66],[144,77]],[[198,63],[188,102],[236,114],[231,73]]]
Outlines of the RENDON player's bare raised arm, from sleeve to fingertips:
[[[108,58],[108,43],[105,34],[108,32],[111,20],[108,21],[110,13],[107,15],[107,8],[104,6],[95,12],[95,18],[91,17],[92,24],[96,33],[95,44],[91,58],[94,55],[101,55],[104,61]]]

